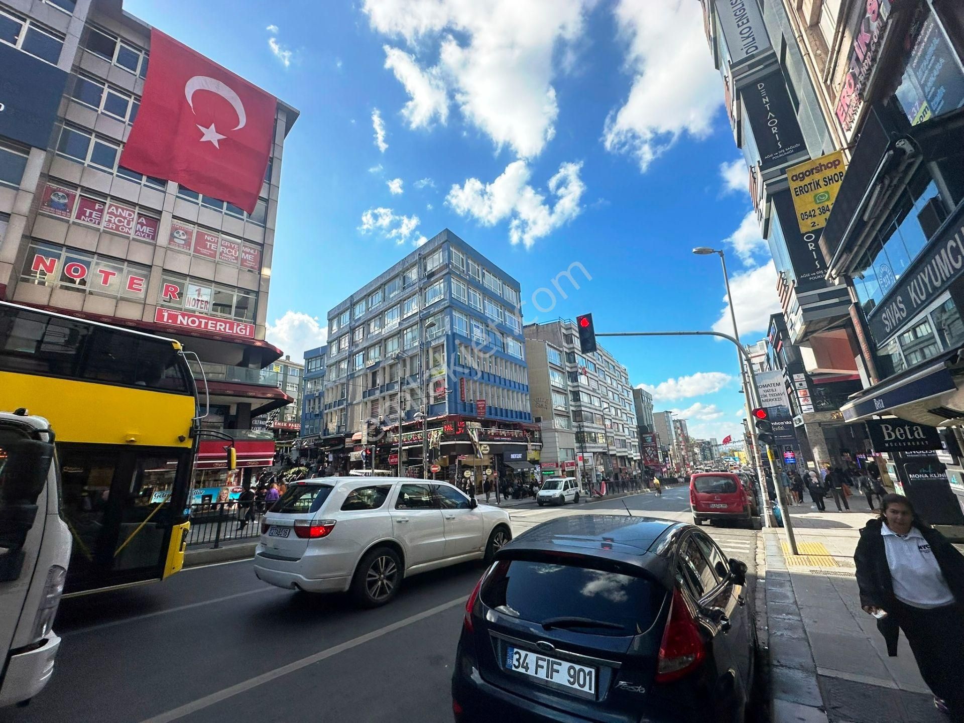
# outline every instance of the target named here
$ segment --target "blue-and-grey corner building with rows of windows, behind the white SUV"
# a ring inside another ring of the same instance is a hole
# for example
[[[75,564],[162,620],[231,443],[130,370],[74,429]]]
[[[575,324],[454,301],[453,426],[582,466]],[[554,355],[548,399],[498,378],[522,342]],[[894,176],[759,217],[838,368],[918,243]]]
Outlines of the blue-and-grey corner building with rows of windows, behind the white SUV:
[[[386,435],[397,434],[401,419],[403,467],[422,469],[424,426],[441,432],[428,451],[446,478],[471,462],[457,461],[456,452],[474,451],[494,470],[509,462],[532,469],[539,435],[519,302],[519,281],[447,228],[364,284],[328,312],[329,437],[312,447],[338,450],[347,467],[362,463],[377,439],[375,462],[393,469],[397,444]],[[490,451],[482,453],[486,441]],[[495,459],[519,450],[522,459]]]

